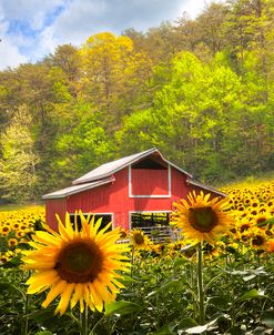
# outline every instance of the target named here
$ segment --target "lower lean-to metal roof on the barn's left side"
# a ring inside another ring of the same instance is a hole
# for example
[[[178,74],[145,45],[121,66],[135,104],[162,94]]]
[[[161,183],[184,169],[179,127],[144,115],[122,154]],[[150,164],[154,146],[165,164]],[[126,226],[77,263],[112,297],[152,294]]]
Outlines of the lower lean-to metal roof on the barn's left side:
[[[94,187],[98,187],[98,186],[101,186],[101,185],[104,185],[104,184],[109,184],[109,183],[113,182],[114,180],[115,180],[114,177],[109,177],[109,179],[100,180],[100,181],[97,181],[97,182],[93,182],[93,183],[73,185],[73,186],[70,186],[70,187],[59,190],[57,192],[44,194],[42,196],[42,199],[65,197],[65,196],[71,195],[71,194],[75,194],[75,193],[83,192],[83,191],[87,191],[87,190],[91,190],[91,189],[94,189]]]

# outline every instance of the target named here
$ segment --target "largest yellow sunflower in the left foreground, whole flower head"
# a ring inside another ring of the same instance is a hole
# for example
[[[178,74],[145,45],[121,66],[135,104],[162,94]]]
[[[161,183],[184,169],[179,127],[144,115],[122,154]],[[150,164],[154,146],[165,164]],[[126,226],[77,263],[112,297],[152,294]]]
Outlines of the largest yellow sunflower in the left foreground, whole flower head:
[[[58,217],[58,216],[57,216]],[[102,220],[94,222],[94,216],[84,217],[80,212],[81,231],[73,230],[67,213],[63,224],[58,217],[59,233],[44,225],[44,231],[37,231],[30,245],[35,250],[24,251],[23,267],[34,270],[28,280],[28,294],[50,288],[43,307],[59,295],[61,296],[55,314],[64,314],[70,303],[73,308],[84,302],[92,311],[103,309],[103,304],[115,300],[123,285],[116,280],[121,275],[116,271],[128,270],[128,251],[123,244],[115,244],[119,230],[106,232],[109,223],[100,230]]]

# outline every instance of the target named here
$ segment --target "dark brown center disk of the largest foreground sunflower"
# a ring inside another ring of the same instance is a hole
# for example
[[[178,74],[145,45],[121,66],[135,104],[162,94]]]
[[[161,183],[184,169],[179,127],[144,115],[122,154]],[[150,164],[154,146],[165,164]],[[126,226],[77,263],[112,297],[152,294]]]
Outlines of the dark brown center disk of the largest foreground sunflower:
[[[61,250],[54,268],[68,283],[92,283],[102,265],[103,255],[94,242],[73,241]]]

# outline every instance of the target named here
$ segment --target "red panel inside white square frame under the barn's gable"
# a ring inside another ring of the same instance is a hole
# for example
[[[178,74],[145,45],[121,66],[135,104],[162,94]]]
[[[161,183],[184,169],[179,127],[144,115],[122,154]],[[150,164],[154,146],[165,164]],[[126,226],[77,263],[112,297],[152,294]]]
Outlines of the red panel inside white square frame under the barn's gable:
[[[132,195],[168,195],[169,170],[131,169]]]

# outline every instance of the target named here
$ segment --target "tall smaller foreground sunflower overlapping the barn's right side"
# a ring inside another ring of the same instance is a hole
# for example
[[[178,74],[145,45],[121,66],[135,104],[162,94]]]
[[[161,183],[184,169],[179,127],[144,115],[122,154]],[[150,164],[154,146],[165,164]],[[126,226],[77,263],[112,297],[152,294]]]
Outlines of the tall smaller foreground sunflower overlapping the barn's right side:
[[[227,199],[210,197],[210,193],[193,192],[187,196],[189,202],[182,199],[181,203],[173,203],[176,211],[172,213],[171,224],[181,229],[185,238],[213,243],[234,224],[232,214],[223,212],[230,206]]]

